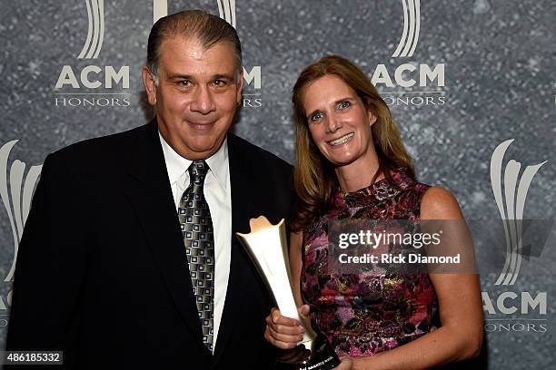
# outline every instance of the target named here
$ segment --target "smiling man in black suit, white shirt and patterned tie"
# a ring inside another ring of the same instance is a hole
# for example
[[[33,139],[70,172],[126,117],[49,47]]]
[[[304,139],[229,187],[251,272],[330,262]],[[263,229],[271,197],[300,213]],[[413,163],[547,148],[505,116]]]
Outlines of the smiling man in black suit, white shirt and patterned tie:
[[[271,368],[271,299],[235,232],[293,204],[291,166],[229,133],[241,46],[220,18],[159,20],[155,119],[49,155],[15,272],[9,350],[69,368]]]

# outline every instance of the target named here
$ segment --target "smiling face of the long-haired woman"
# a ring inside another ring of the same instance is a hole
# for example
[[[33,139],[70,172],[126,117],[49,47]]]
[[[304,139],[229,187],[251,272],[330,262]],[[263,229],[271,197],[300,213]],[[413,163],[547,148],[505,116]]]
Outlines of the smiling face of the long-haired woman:
[[[341,78],[326,74],[308,84],[303,108],[313,141],[335,166],[364,161],[374,151],[371,126],[376,116]]]

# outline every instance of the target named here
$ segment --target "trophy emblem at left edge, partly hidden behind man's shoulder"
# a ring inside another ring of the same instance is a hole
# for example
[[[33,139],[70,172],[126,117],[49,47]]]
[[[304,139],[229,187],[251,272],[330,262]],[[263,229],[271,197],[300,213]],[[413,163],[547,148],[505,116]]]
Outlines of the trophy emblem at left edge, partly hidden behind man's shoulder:
[[[7,273],[3,278],[5,288],[0,296],[0,327],[7,326],[7,312],[11,305],[11,283],[14,280],[15,261],[17,249],[23,235],[25,221],[31,209],[33,191],[39,179],[42,165],[34,165],[28,168],[24,161],[14,160],[9,163],[10,152],[14,148],[17,140],[9,141],[0,147],[0,198],[4,204],[5,212],[8,216],[12,237],[14,241],[13,258],[8,261]],[[4,294],[4,291],[7,293]]]

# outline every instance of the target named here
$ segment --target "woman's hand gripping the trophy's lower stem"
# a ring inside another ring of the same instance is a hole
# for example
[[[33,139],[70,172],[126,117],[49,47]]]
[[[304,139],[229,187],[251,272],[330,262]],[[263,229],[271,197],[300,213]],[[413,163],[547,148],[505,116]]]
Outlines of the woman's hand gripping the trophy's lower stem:
[[[309,306],[299,308],[302,319],[309,316]],[[295,318],[282,316],[278,308],[273,308],[271,314],[266,316],[266,329],[264,338],[273,346],[282,349],[293,348],[303,340],[305,329]]]

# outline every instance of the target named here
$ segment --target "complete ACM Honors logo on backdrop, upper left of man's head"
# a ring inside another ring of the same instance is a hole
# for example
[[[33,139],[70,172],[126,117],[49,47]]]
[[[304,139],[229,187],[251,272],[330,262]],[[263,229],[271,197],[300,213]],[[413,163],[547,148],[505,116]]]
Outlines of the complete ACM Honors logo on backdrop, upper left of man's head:
[[[77,60],[95,60],[104,44],[104,0],[84,0],[88,28]],[[121,89],[114,92],[114,88]],[[69,90],[68,90],[69,89]],[[129,65],[89,64],[83,68],[65,64],[55,84],[56,107],[130,105]],[[84,91],[86,90],[86,91]]]

